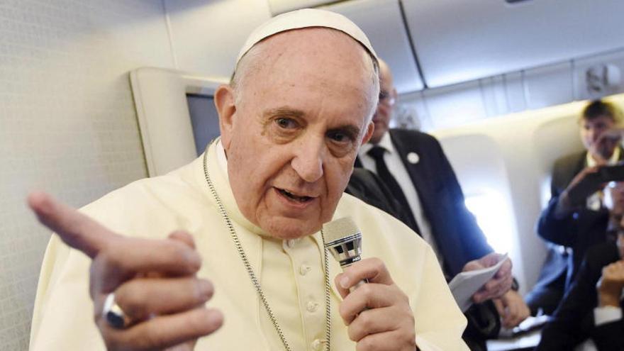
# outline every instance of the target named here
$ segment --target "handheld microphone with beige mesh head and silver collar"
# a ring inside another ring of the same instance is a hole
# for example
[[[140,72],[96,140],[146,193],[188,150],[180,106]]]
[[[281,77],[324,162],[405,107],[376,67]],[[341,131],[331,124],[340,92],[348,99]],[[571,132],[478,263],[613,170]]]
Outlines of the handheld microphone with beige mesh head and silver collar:
[[[325,248],[340,263],[343,271],[345,267],[362,260],[360,257],[362,255],[362,233],[350,217],[339,218],[325,223],[323,225],[323,234],[325,235],[325,240],[328,240],[325,243]],[[349,291],[357,289],[358,286],[364,283],[368,283],[368,280],[361,280],[355,286],[352,286]]]

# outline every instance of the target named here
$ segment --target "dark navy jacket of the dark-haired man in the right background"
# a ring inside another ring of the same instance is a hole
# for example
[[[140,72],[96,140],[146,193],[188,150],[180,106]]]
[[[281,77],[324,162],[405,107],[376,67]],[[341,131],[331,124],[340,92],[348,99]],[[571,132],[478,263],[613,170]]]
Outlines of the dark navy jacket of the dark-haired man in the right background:
[[[621,151],[620,155],[623,155]],[[555,301],[550,301],[549,304],[557,306],[560,297],[567,291],[572,279],[574,279],[587,247],[602,243],[606,239],[609,216],[606,208],[591,211],[583,207],[576,209],[565,218],[555,218],[555,208],[559,196],[572,182],[576,174],[585,167],[585,151],[562,157],[555,162],[550,184],[551,198],[537,223],[537,234],[548,243],[572,248],[572,254],[568,255],[560,247],[549,249],[540,279],[528,298],[530,305],[533,305],[531,303],[533,299],[540,299],[538,295],[542,291],[550,289],[557,291],[557,294],[552,297]],[[545,303],[545,301],[540,301],[540,303]]]

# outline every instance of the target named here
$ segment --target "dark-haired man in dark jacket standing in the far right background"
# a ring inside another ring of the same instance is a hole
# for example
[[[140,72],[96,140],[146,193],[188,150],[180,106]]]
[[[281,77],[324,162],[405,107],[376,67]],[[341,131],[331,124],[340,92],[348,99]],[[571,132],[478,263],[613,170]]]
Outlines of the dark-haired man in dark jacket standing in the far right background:
[[[605,101],[593,101],[579,118],[581,140],[586,151],[555,162],[548,206],[537,223],[537,234],[549,243],[547,260],[537,284],[526,300],[533,314],[546,314],[557,303],[576,275],[587,247],[605,240],[608,210],[603,206],[602,182],[595,182],[598,167],[613,165],[624,155],[619,138],[611,138],[622,120],[618,108]]]

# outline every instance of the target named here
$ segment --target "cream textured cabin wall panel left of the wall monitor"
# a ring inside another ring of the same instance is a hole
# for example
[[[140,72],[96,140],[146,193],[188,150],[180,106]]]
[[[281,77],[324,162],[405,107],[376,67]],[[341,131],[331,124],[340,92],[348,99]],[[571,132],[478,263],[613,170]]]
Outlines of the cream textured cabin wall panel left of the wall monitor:
[[[0,1],[0,350],[27,350],[50,231],[33,189],[82,206],[145,177],[127,72],[173,68],[153,0]]]

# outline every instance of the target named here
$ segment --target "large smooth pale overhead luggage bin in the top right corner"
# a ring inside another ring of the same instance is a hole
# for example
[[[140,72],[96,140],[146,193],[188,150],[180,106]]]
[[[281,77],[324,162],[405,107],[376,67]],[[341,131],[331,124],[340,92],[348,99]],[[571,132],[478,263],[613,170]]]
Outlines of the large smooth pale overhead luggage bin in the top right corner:
[[[402,0],[428,87],[624,48],[622,0]]]

